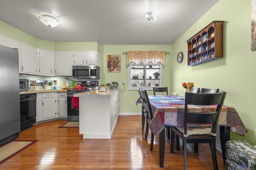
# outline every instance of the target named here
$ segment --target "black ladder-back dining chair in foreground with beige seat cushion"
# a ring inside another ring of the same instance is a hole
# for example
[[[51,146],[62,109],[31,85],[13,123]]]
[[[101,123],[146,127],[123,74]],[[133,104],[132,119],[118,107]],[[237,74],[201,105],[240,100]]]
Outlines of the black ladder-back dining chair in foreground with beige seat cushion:
[[[174,135],[178,135],[184,142],[184,170],[187,169],[187,143],[209,143],[212,152],[214,170],[218,170],[216,159],[216,129],[226,92],[212,94],[185,93],[184,127],[171,127],[170,152],[173,153]],[[217,105],[210,113],[194,112],[188,105]],[[212,127],[188,127],[187,123],[209,124]]]

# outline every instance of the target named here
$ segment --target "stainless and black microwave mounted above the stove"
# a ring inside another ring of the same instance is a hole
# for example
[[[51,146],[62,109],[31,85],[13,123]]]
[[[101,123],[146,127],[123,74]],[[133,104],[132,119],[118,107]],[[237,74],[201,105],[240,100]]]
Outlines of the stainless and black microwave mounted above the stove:
[[[98,66],[73,66],[73,78],[100,79],[100,67]]]

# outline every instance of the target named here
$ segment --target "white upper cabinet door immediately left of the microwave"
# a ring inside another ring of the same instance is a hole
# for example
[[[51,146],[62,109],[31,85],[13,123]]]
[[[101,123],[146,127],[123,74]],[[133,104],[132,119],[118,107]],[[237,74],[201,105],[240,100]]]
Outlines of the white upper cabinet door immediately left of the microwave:
[[[71,53],[55,52],[55,76],[72,76],[72,62],[73,58]]]

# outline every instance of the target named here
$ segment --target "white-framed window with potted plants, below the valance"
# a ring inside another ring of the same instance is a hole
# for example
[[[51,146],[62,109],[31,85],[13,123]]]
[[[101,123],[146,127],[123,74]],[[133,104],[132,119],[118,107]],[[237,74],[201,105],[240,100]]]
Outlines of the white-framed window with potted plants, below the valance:
[[[137,90],[138,88],[152,90],[152,87],[162,86],[162,64],[136,65],[130,63],[129,73],[130,90]],[[157,76],[158,74],[159,76]]]

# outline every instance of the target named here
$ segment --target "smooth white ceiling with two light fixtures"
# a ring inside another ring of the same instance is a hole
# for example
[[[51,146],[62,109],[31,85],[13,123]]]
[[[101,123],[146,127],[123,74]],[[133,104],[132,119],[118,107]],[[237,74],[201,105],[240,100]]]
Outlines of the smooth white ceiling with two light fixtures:
[[[0,20],[36,38],[101,45],[171,45],[218,0],[0,0]],[[145,14],[153,12],[156,21]],[[59,20],[47,27],[40,15]],[[189,37],[188,37],[189,38]]]

